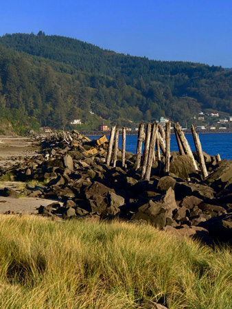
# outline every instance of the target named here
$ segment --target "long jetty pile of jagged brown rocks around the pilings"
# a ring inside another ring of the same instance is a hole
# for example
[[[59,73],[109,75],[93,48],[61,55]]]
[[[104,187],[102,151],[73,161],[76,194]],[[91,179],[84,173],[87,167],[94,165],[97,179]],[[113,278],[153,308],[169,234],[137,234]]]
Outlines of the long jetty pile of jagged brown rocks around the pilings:
[[[165,174],[165,156],[153,162],[149,181],[135,170],[136,155],[117,151],[117,164],[106,164],[108,140],[90,140],[78,131],[40,137],[41,152],[17,165],[5,166],[0,174],[28,182],[24,196],[53,199],[40,206],[38,214],[57,220],[127,220],[150,224],[177,237],[202,242],[232,244],[232,161],[216,160],[204,153],[209,176],[196,171],[189,155],[170,153],[170,172]],[[198,158],[194,153],[197,165]],[[114,158],[115,159],[115,158]],[[36,185],[32,183],[36,182]],[[7,188],[1,196],[17,197]],[[9,209],[10,210],[10,209]],[[59,219],[58,219],[59,218]]]

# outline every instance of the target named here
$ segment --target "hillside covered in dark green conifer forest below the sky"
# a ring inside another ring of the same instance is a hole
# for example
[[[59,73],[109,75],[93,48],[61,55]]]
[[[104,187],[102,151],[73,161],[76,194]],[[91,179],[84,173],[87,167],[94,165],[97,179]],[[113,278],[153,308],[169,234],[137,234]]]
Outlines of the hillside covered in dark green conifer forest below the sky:
[[[222,67],[117,54],[41,31],[0,37],[0,52],[2,115],[9,118],[13,108],[30,125],[62,128],[77,118],[91,125],[99,117],[126,124],[160,116],[185,124],[204,108],[232,114],[232,71]]]

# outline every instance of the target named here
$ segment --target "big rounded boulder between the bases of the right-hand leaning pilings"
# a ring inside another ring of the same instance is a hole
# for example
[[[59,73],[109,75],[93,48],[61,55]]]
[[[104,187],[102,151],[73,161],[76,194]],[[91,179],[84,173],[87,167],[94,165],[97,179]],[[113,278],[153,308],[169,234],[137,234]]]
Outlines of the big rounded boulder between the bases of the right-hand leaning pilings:
[[[192,158],[189,155],[182,155],[171,157],[170,172],[181,179],[187,179],[189,174],[196,173],[196,169]]]

